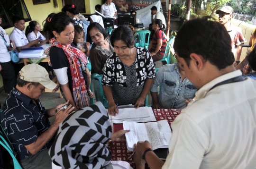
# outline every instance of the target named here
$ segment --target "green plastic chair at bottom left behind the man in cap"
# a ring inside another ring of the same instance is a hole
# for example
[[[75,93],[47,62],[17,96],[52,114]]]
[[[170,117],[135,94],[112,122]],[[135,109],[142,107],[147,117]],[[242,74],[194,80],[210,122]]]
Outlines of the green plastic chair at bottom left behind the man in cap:
[[[0,144],[9,152],[10,156],[12,157],[14,169],[23,169],[13,153],[12,144],[10,143],[7,135],[5,134],[1,124],[0,124]]]

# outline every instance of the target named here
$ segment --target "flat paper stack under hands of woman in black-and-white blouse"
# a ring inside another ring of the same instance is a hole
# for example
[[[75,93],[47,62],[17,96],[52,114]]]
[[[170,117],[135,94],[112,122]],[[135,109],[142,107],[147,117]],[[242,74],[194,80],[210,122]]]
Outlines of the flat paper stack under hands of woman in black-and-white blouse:
[[[119,109],[119,114],[111,116],[110,121],[112,123],[123,123],[123,121],[135,121],[135,122],[148,122],[156,121],[154,112],[151,107],[139,107]]]

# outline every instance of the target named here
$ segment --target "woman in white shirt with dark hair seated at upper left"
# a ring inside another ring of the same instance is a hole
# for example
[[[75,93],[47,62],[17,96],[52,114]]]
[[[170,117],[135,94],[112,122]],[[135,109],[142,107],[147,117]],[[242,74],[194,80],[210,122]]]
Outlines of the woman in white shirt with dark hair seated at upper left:
[[[39,40],[39,43],[35,45],[36,47],[42,46],[47,42],[46,38],[40,33],[41,25],[38,24],[37,21],[29,22],[29,25],[26,28],[26,36],[28,42],[34,41],[36,39]]]

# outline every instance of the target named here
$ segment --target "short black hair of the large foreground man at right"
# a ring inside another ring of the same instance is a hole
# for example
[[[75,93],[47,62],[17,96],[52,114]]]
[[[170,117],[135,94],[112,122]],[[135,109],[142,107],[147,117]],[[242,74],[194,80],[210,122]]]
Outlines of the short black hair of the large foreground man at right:
[[[202,17],[185,22],[174,41],[174,51],[187,65],[190,54],[196,53],[212,65],[223,69],[234,63],[231,40],[226,28],[219,22]]]

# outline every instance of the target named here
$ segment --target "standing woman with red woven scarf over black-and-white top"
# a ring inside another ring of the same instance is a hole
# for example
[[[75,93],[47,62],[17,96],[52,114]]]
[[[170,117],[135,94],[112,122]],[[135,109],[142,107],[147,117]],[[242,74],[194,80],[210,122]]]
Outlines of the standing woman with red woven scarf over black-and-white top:
[[[90,105],[86,90],[88,63],[85,54],[73,44],[73,19],[60,12],[48,17],[44,26],[51,47],[45,53],[49,56],[49,65],[53,67],[61,86],[61,93],[74,110]]]

